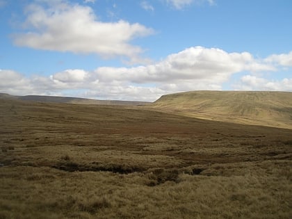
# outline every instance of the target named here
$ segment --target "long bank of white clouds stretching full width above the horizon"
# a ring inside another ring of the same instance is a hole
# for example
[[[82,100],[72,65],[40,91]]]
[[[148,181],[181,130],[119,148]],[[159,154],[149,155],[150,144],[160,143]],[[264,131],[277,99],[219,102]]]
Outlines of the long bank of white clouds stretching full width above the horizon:
[[[279,54],[286,57],[289,54]],[[248,72],[234,84],[236,90],[292,91],[292,79],[269,80],[277,66],[248,52],[228,53],[218,48],[190,47],[152,65],[64,70],[30,78],[11,70],[0,72],[0,92],[17,95],[68,95],[98,99],[154,101],[172,92],[222,90],[238,73]],[[277,64],[278,65],[278,64]],[[260,77],[258,75],[261,75]]]

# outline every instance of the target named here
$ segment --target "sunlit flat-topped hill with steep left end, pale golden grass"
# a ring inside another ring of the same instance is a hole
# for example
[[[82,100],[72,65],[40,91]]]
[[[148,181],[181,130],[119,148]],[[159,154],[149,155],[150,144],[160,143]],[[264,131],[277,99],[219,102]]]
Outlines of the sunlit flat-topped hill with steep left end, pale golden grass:
[[[292,129],[292,92],[181,92],[163,95],[152,107],[207,120]]]

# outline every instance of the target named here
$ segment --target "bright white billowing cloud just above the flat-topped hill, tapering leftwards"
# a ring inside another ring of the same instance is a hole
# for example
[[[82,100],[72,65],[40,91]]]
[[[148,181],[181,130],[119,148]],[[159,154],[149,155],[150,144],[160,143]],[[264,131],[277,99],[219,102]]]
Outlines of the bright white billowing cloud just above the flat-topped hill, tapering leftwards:
[[[222,83],[231,74],[243,70],[274,70],[270,65],[257,63],[252,55],[230,53],[222,49],[190,47],[171,54],[155,65],[139,67],[99,67],[95,72],[104,81],[131,81],[132,83],[175,83],[176,81],[210,81]]]

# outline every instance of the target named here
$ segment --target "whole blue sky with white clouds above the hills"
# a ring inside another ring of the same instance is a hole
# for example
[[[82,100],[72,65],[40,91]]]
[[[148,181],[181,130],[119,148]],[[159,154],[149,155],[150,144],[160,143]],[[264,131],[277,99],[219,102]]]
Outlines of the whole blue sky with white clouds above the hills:
[[[0,92],[292,91],[290,0],[0,0]]]

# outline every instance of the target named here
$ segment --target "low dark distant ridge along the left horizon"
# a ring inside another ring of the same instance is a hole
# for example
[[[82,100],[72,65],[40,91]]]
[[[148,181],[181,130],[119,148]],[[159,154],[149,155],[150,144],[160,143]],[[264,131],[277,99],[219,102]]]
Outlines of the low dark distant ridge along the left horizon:
[[[54,97],[54,96],[40,96],[40,95],[26,95],[13,96],[0,93],[0,99],[19,99],[33,102],[50,102],[50,103],[64,103],[64,104],[99,104],[99,105],[123,105],[123,106],[138,106],[149,104],[149,102],[135,102],[135,101],[120,101],[120,100],[98,100],[86,99],[79,97]]]

